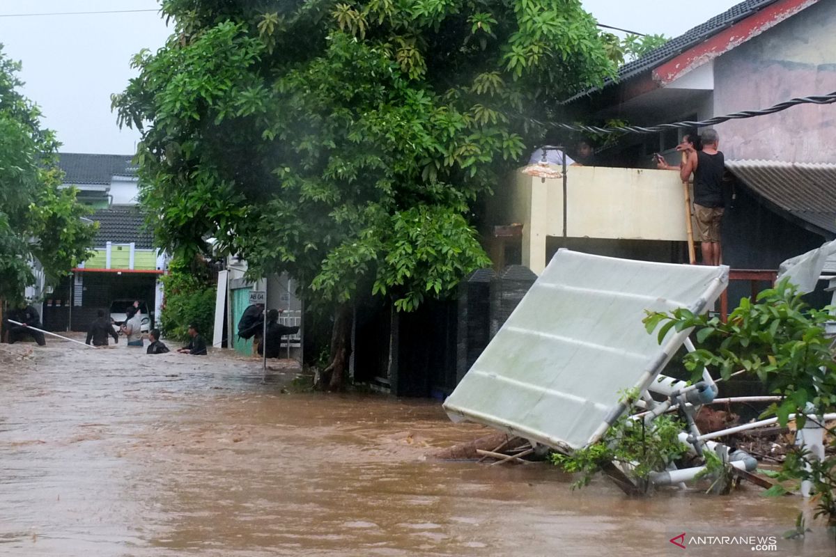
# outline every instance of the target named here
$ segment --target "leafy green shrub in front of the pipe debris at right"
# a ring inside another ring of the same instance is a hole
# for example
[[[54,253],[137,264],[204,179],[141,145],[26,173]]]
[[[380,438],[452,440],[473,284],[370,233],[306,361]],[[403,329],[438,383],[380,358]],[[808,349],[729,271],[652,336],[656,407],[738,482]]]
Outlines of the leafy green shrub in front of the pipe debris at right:
[[[768,392],[782,397],[764,415],[776,416],[784,426],[790,414],[797,414],[795,423],[800,429],[808,414],[821,416],[836,411],[833,339],[824,328],[833,319],[833,310],[810,308],[795,286],[783,279],[774,288],[760,292],[757,303],[743,298],[725,323],[717,317],[677,309],[650,313],[645,326],[649,332],[659,327],[660,341],[671,328],[684,331],[694,327],[701,348],[685,357],[694,380],[699,380],[705,367],[716,368],[724,379],[732,372],[745,370],[757,376]],[[716,343],[715,349],[704,347],[710,339]],[[831,445],[836,448],[836,437],[833,439]],[[836,454],[830,452],[818,461],[809,458],[806,450],[793,448],[778,479],[811,481],[817,492],[818,514],[827,515],[836,524]],[[782,488],[773,493],[782,493]]]

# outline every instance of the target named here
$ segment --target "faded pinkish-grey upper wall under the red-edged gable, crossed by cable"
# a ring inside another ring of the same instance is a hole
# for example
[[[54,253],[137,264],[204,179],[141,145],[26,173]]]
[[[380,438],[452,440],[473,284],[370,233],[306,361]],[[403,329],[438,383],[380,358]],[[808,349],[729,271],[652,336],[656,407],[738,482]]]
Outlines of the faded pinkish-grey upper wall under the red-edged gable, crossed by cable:
[[[821,0],[715,61],[715,114],[836,91],[836,2]],[[716,126],[728,159],[836,162],[836,107],[796,106]]]

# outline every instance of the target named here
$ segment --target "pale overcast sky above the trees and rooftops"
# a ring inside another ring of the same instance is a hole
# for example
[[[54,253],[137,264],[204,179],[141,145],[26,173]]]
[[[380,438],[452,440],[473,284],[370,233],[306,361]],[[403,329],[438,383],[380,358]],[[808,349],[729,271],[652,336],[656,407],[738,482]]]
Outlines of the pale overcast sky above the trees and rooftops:
[[[737,0],[665,3],[656,0],[583,0],[599,23],[675,37],[726,11]],[[23,62],[23,94],[41,106],[67,153],[133,154],[139,135],[120,130],[110,94],[135,75],[130,58],[166,41],[156,0],[0,0],[0,43]],[[9,17],[20,13],[154,10],[135,13]]]

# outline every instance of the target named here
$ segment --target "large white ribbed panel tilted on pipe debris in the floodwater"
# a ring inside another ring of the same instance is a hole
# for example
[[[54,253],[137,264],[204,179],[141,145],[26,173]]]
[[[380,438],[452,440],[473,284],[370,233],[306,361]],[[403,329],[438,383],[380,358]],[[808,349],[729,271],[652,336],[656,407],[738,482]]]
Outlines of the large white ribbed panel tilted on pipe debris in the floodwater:
[[[593,443],[684,342],[660,346],[645,310],[704,311],[728,267],[631,261],[560,250],[444,403],[468,419],[553,448]]]

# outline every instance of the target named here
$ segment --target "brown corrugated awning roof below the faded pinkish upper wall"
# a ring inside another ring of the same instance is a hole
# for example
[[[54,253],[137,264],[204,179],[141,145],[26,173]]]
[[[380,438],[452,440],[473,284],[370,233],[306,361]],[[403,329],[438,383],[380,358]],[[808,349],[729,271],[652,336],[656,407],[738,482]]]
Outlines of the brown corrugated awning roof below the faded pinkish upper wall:
[[[726,160],[726,169],[773,209],[818,234],[836,235],[836,165]]]

